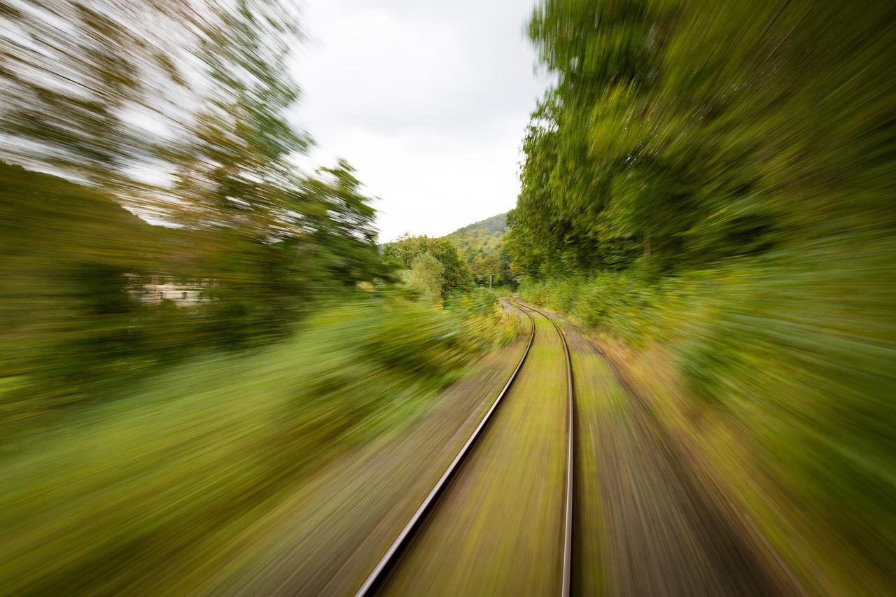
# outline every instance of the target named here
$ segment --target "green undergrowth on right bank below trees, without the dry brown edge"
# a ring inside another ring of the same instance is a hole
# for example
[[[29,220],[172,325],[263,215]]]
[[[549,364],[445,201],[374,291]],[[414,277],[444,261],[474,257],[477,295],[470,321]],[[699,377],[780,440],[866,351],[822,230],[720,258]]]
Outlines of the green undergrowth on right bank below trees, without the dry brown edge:
[[[896,277],[890,251],[849,248],[804,247],[654,283],[637,267],[530,281],[521,294],[633,346],[661,343],[694,400],[740,421],[801,507],[854,548],[883,555],[896,544],[886,473]]]

